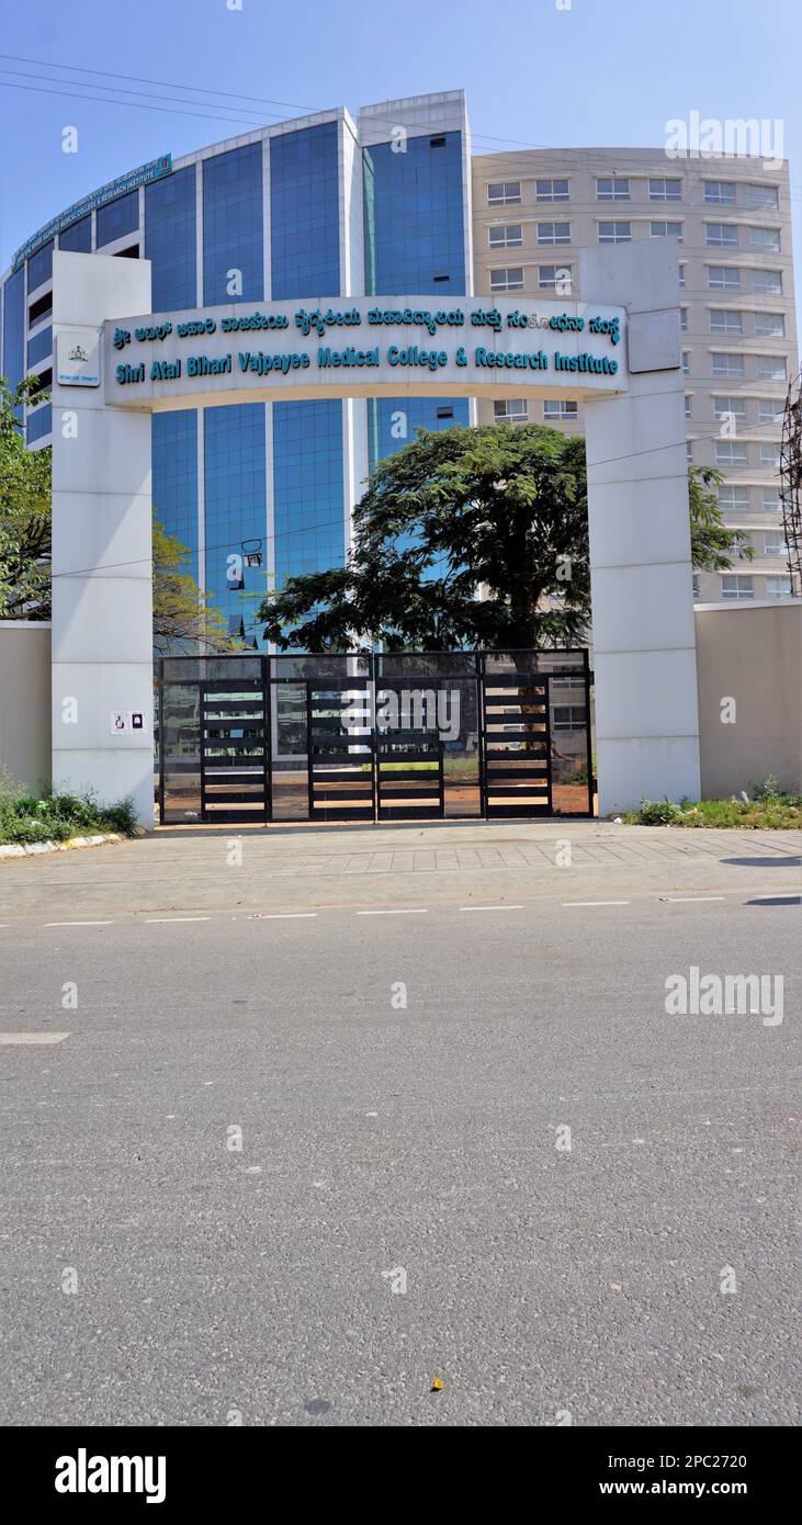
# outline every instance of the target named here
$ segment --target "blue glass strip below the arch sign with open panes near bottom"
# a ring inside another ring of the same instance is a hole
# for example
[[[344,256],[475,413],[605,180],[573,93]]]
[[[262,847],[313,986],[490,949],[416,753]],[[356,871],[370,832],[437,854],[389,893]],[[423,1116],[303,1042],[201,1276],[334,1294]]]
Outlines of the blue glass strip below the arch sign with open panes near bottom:
[[[262,567],[245,570],[247,593],[265,593],[267,496],[264,403],[204,410],[206,587],[226,624],[235,616],[253,639],[258,599],[244,602],[227,578],[227,557],[242,554],[242,540],[262,541]],[[256,546],[253,546],[256,549]],[[261,627],[258,627],[261,631]]]

